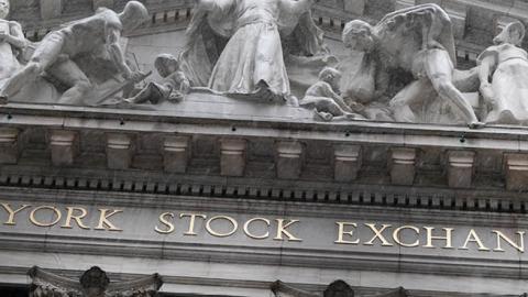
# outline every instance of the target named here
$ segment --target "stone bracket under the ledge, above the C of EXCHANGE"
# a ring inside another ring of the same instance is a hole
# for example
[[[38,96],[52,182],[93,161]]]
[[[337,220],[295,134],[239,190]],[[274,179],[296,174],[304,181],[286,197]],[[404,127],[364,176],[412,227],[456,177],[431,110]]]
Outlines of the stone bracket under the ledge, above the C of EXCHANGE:
[[[410,186],[415,183],[416,148],[393,147],[388,162],[393,185]]]

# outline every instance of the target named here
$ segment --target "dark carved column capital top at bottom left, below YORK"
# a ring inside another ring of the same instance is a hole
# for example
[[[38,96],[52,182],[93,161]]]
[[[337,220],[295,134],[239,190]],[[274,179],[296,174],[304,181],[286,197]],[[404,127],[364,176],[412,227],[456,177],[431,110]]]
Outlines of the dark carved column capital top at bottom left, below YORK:
[[[163,285],[157,274],[125,282],[110,282],[99,267],[86,271],[78,280],[34,266],[30,297],[155,297]]]

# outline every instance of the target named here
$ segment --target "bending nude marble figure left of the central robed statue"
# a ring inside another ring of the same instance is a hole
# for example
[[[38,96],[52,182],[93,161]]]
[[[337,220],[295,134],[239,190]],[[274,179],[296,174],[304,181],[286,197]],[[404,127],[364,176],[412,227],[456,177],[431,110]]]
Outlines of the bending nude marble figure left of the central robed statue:
[[[30,62],[7,81],[0,97],[9,100],[24,85],[45,73],[66,86],[59,103],[82,105],[82,97],[94,85],[76,59],[101,53],[110,57],[125,79],[142,78],[142,74],[132,72],[127,65],[119,42],[122,31],[134,30],[147,20],[145,7],[139,1],[129,1],[122,13],[101,8],[92,16],[62,25],[43,38]]]

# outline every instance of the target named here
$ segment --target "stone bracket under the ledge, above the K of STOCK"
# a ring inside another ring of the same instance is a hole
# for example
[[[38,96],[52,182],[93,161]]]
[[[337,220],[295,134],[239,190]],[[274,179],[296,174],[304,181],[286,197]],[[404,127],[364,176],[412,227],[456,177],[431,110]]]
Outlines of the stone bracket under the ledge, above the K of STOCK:
[[[304,147],[297,141],[280,141],[276,144],[277,177],[283,179],[299,178],[302,169]]]

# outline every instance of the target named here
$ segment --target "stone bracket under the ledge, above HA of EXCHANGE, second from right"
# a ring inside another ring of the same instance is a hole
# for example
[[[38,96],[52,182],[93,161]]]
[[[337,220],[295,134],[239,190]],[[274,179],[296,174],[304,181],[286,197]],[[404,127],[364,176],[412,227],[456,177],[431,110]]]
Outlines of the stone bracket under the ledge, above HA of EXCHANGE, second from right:
[[[449,187],[470,188],[473,180],[475,152],[450,151],[447,161]]]

